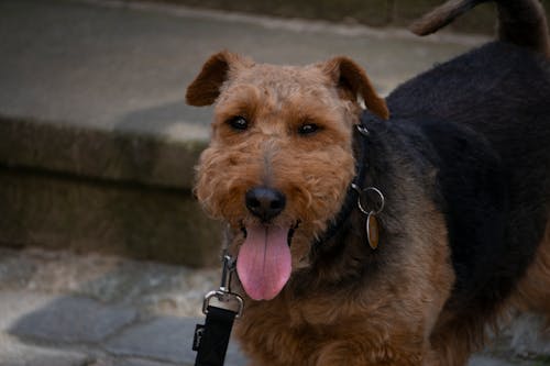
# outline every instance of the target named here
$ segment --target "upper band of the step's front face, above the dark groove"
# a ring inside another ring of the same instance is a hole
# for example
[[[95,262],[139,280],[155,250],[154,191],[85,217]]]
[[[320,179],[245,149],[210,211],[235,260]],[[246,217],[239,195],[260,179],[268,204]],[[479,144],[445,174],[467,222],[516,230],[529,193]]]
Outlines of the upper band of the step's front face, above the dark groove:
[[[207,137],[169,140],[2,115],[0,136],[0,162],[7,168],[188,191],[194,166],[207,144]]]

